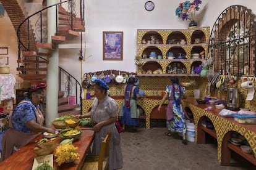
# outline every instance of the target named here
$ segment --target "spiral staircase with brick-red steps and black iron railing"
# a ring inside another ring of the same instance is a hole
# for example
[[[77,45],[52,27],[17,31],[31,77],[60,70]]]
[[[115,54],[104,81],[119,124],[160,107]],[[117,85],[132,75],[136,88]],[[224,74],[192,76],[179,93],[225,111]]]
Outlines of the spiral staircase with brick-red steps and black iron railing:
[[[82,17],[84,16],[84,12],[80,12],[80,17],[76,16],[74,10],[74,0],[67,0],[49,7],[45,7],[30,16],[27,16],[27,12],[22,0],[0,0],[0,2],[4,6],[4,9],[9,15],[12,25],[17,32],[18,75],[23,79],[23,82],[29,82],[30,84],[46,83],[46,75],[48,70],[47,65],[49,63],[48,59],[55,50],[55,46],[58,46],[58,44],[61,44],[62,42],[70,40],[74,37],[80,36],[80,32],[85,31],[85,22]],[[69,4],[68,9],[64,9],[64,7],[61,6],[64,3]],[[84,1],[80,1],[79,4],[81,11],[84,11],[84,9],[81,7],[83,3]],[[49,8],[56,9],[57,14],[56,25],[53,25],[56,26],[56,33],[51,35],[51,43],[47,42],[47,30],[43,27],[43,20],[47,20],[45,13]],[[33,17],[37,18],[33,19]],[[33,20],[37,21],[35,25],[32,23]],[[20,23],[20,21],[23,22]],[[62,68],[59,70],[63,71]],[[74,78],[65,70],[64,73],[67,74],[69,78]],[[80,85],[76,79],[75,84]],[[82,89],[80,86],[80,102],[82,101],[81,95]],[[76,115],[81,112],[80,110],[76,110],[76,108],[81,107],[79,104],[69,105],[68,97],[64,97],[64,91],[59,91],[58,103],[59,115]]]

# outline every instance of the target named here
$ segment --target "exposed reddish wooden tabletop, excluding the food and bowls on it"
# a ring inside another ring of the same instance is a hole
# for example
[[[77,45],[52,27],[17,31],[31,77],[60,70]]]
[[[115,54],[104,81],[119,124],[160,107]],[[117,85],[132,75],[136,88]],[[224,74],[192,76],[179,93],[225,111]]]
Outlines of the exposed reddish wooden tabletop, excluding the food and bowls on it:
[[[79,153],[79,160],[74,161],[73,163],[64,163],[61,166],[57,166],[54,159],[54,168],[55,169],[80,169],[82,168],[83,161],[85,159],[86,153],[92,144],[94,136],[94,131],[91,129],[83,130],[79,139],[73,142],[75,147],[78,147],[77,153]],[[36,153],[33,151],[35,148],[36,141],[43,138],[43,135],[36,137],[29,144],[20,148],[17,152],[11,155],[6,160],[0,163],[0,169],[13,170],[13,169],[32,169],[34,158]],[[59,144],[61,138],[53,140],[56,144]]]

